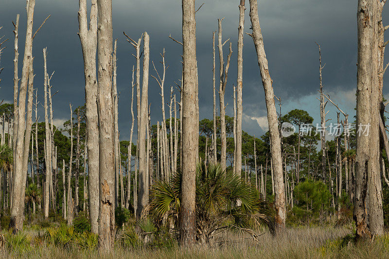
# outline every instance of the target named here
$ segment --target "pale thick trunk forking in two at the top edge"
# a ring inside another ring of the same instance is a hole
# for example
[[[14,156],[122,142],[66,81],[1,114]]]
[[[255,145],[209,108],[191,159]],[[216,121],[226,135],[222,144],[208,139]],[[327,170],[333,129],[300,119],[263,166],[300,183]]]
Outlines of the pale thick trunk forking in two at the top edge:
[[[87,1],[79,0],[78,24],[79,37],[84,57],[85,110],[87,122],[88,147],[88,184],[89,217],[91,231],[99,233],[99,129],[97,114],[97,3],[91,0],[90,22],[88,29]]]

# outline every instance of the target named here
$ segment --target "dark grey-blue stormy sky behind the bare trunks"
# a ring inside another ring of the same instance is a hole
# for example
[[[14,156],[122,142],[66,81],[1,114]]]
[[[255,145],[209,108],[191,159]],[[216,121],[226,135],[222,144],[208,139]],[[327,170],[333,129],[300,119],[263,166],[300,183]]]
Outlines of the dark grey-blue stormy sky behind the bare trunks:
[[[232,84],[236,85],[237,70],[237,24],[239,19],[239,0],[203,0],[196,6],[204,6],[196,13],[197,22],[197,63],[199,74],[200,119],[212,119],[212,31],[217,29],[217,18],[225,17],[222,22],[223,40],[230,38],[232,57],[226,90],[227,115],[232,116]],[[283,99],[283,114],[291,109],[307,110],[314,123],[319,123],[318,88],[318,47],[321,45],[323,85],[326,93],[340,107],[354,116],[356,91],[356,0],[260,0],[259,17],[265,40],[265,51],[269,61],[274,92]],[[2,0],[0,2],[0,35],[10,40],[1,53],[0,67],[4,67],[0,77],[0,99],[11,103],[13,100],[13,25],[12,21],[20,14],[19,20],[19,71],[23,59],[26,13],[25,0]],[[247,8],[248,0],[247,0]],[[179,0],[113,0],[113,35],[118,39],[117,85],[119,98],[119,127],[121,139],[129,138],[130,128],[130,81],[132,66],[131,55],[135,49],[125,41],[123,32],[133,39],[147,31],[150,35],[150,61],[154,60],[161,71],[160,55],[166,50],[165,102],[168,102],[170,86],[181,79],[182,47],[173,42],[171,34],[180,40],[181,2]],[[249,8],[248,8],[249,9]],[[246,10],[245,32],[251,32],[249,10]],[[389,22],[388,7],[384,10],[384,25]],[[34,28],[36,29],[49,14],[44,27],[34,39],[35,56],[34,86],[43,102],[43,56],[42,49],[47,47],[48,73],[52,78],[52,91],[59,91],[53,97],[53,116],[55,124],[62,126],[69,120],[69,102],[73,107],[84,104],[84,70],[81,45],[78,35],[77,0],[36,0]],[[217,34],[216,34],[217,37]],[[228,44],[224,54],[228,54]],[[218,52],[216,49],[216,71],[218,71]],[[225,57],[226,58],[226,57]],[[388,61],[387,61],[388,62]],[[151,65],[151,62],[150,62]],[[265,97],[255,49],[252,39],[244,37],[244,74],[243,74],[243,130],[257,136],[266,131]],[[150,66],[150,74],[155,72]],[[216,73],[216,78],[218,73]],[[20,77],[20,75],[19,75]],[[217,82],[217,80],[216,80]],[[216,84],[216,88],[218,85]],[[161,100],[159,86],[149,79],[149,102],[151,118],[155,124],[161,120]],[[384,87],[388,98],[389,90]],[[177,100],[179,93],[177,92]],[[217,102],[218,102],[218,98]],[[217,105],[218,106],[218,105]],[[43,108],[39,107],[42,114]],[[329,118],[336,117],[333,105],[328,104]],[[134,111],[136,110],[134,106]],[[277,108],[278,110],[278,108]],[[168,111],[166,113],[168,116]],[[42,121],[43,116],[40,117]]]

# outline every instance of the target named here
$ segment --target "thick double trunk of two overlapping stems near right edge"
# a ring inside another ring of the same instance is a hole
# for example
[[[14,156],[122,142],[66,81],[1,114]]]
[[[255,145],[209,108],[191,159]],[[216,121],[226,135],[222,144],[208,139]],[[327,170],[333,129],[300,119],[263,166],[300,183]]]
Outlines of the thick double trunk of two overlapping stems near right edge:
[[[371,142],[375,137],[376,121],[372,114],[372,109],[377,109],[378,101],[374,97],[375,83],[377,81],[378,64],[374,57],[377,56],[375,31],[378,27],[378,1],[358,0],[357,24],[358,24],[358,67],[357,67],[357,98],[356,98],[356,125],[371,125],[369,135],[360,134],[356,136],[356,172],[354,190],[354,221],[356,224],[357,238],[370,238],[371,230],[375,233],[374,227],[368,227],[368,217],[370,224],[378,224],[373,221],[378,220],[374,211],[374,195],[378,194],[371,188],[374,187],[375,171],[379,172],[379,154],[375,148],[377,143]],[[378,85],[378,84],[377,84]],[[377,89],[378,90],[378,89]],[[378,111],[377,111],[378,112]],[[372,132],[373,131],[373,132]],[[378,149],[378,148],[377,148]],[[378,164],[378,168],[377,168]],[[373,177],[373,179],[371,179]],[[381,183],[381,182],[380,182]],[[378,187],[378,186],[377,186]],[[367,195],[369,190],[369,195]],[[369,196],[369,197],[368,197]],[[375,197],[375,199],[380,199]],[[367,207],[369,206],[369,215]],[[378,205],[378,204],[377,204]],[[377,207],[378,208],[378,207]],[[382,207],[381,207],[382,209]]]

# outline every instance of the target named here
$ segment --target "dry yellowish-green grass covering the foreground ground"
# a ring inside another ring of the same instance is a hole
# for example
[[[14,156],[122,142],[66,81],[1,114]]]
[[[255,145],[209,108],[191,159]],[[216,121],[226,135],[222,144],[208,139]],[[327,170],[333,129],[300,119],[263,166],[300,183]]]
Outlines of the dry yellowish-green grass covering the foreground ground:
[[[283,235],[272,237],[264,233],[253,241],[250,236],[228,233],[217,245],[198,246],[190,250],[179,248],[123,248],[119,243],[110,254],[99,254],[96,249],[80,250],[77,246],[59,248],[48,242],[34,242],[33,234],[28,234],[30,246],[18,248],[20,240],[13,241],[11,249],[7,243],[0,252],[1,258],[389,258],[389,235],[376,238],[369,243],[352,242],[351,227],[294,227],[288,228]],[[35,239],[38,240],[38,239]]]

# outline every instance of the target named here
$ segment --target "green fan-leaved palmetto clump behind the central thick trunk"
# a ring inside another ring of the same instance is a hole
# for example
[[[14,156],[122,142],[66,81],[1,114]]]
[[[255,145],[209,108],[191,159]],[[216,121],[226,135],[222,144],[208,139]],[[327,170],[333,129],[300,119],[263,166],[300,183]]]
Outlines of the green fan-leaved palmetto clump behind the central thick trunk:
[[[151,190],[149,211],[159,224],[167,218],[176,220],[180,209],[181,173],[173,173],[170,181],[157,181]],[[196,237],[210,242],[217,231],[226,228],[249,232],[261,224],[274,233],[273,218],[260,193],[220,165],[198,164],[196,168]],[[176,216],[176,217],[175,217]],[[251,233],[252,232],[252,233]]]

